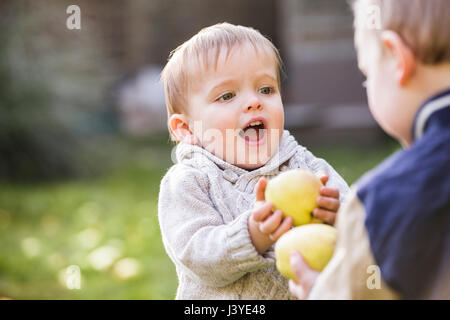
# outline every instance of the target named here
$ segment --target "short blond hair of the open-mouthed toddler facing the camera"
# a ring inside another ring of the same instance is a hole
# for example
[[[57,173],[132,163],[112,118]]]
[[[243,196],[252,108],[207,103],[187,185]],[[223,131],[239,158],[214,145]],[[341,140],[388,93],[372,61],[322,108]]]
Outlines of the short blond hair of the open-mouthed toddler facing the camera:
[[[219,54],[223,50],[226,56],[237,45],[250,44],[258,52],[267,50],[274,55],[277,69],[278,87],[281,89],[283,63],[274,44],[259,31],[230,23],[219,23],[201,29],[192,38],[170,52],[168,62],[161,72],[164,85],[168,118],[172,114],[186,113],[190,79],[202,68],[210,68],[211,62],[217,68]],[[170,125],[169,132],[173,138]]]

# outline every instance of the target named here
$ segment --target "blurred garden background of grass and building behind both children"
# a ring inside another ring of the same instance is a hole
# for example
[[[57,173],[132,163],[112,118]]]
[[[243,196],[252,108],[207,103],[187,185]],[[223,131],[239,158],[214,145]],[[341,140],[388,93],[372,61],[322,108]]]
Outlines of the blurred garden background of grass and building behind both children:
[[[224,21],[280,49],[287,128],[349,184],[399,148],[367,109],[345,0],[2,0],[0,298],[174,298],[159,72]]]

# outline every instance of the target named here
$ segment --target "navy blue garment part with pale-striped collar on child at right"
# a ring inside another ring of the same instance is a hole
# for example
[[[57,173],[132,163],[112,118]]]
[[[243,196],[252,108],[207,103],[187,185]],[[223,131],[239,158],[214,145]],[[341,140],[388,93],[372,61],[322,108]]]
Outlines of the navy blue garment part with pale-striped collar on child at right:
[[[413,137],[357,183],[375,261],[404,299],[429,297],[450,272],[450,90],[422,105]]]

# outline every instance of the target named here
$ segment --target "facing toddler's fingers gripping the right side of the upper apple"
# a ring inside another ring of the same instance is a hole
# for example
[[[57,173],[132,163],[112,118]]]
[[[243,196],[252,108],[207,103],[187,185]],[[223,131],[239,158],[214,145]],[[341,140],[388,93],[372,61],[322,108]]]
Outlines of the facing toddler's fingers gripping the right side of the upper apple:
[[[328,181],[328,176],[322,175],[320,180],[325,185]],[[320,188],[320,196],[316,202],[318,208],[313,210],[313,216],[323,220],[325,223],[334,225],[336,221],[336,214],[341,205],[339,201],[339,190],[335,188],[322,187]]]

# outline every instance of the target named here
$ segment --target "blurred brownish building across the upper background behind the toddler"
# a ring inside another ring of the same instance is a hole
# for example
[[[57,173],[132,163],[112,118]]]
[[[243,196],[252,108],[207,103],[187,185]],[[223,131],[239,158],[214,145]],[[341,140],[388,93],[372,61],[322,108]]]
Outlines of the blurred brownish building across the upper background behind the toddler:
[[[89,38],[83,43],[92,44],[91,51],[107,65],[108,79],[115,79],[111,96],[120,128],[128,133],[165,130],[166,111],[157,70],[162,69],[171,50],[201,28],[227,21],[258,29],[280,49],[287,75],[283,82],[287,127],[303,139],[319,141],[326,137],[376,140],[380,136],[366,106],[353,46],[353,18],[346,0],[21,3],[22,10],[30,12],[42,3],[52,8],[52,15],[45,17],[53,21],[49,35],[57,30],[55,25],[61,25],[62,43],[76,47],[77,39]],[[64,28],[65,9],[71,4],[81,9],[82,29],[78,31]],[[80,42],[80,50],[83,46]],[[82,70],[88,62],[79,59],[74,66]],[[90,88],[95,92],[105,89]]]

